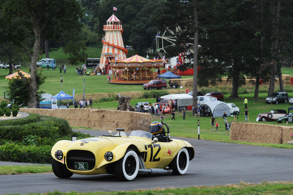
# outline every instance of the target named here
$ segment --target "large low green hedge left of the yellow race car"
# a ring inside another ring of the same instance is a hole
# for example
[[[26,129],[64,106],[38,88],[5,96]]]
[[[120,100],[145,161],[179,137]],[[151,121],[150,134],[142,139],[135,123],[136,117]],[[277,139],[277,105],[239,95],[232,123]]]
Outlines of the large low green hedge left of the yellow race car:
[[[71,135],[92,137],[72,131],[64,119],[40,114],[0,121],[0,161],[51,163],[52,146],[59,140],[71,140]]]

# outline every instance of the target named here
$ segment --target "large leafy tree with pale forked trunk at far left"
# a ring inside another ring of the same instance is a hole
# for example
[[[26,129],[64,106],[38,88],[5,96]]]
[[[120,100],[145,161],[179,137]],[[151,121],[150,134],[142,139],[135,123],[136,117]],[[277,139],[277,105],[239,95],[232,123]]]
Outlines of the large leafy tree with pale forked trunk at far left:
[[[75,0],[23,0],[18,1],[16,4],[14,0],[0,0],[0,9],[3,11],[3,17],[5,18],[6,24],[9,32],[14,34],[13,27],[9,22],[15,18],[21,20],[22,22],[19,25],[23,28],[28,29],[33,33],[35,37],[33,51],[30,52],[28,48],[23,45],[23,40],[25,37],[17,36],[15,39],[11,36],[6,36],[6,40],[13,40],[17,44],[21,45],[31,57],[31,78],[29,82],[29,96],[30,99],[27,101],[29,108],[36,107],[37,100],[37,65],[38,53],[40,49],[41,35],[44,33],[44,30],[48,30],[48,24],[51,24],[51,29],[54,29],[54,26],[60,25],[59,20],[55,23],[54,20],[62,16],[63,29],[67,28],[79,28],[79,26],[74,27],[72,24],[76,24],[79,20],[79,17],[82,16],[81,6],[78,1]],[[59,29],[59,28],[57,28]],[[58,37],[59,34],[54,33],[54,36]],[[2,37],[3,38],[3,37]],[[5,42],[4,39],[1,39],[2,42]]]

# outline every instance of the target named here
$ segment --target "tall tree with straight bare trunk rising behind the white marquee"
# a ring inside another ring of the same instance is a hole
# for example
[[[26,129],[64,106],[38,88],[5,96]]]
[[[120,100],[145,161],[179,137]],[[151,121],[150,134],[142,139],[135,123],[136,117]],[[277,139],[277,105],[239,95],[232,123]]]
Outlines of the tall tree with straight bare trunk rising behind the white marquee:
[[[183,29],[176,34],[177,40],[175,47],[166,48],[168,57],[177,56],[179,53],[187,52],[193,49],[193,105],[197,105],[197,45],[198,45],[198,18],[197,10],[199,9],[197,1],[167,0],[164,2],[165,8],[162,13],[157,14],[157,23],[159,29],[175,29],[180,26]],[[164,21],[164,23],[162,23]],[[175,31],[176,32],[176,31]],[[191,43],[186,47],[186,43]],[[193,43],[193,44],[192,44]],[[181,44],[183,46],[181,46]],[[194,47],[193,47],[194,46]]]

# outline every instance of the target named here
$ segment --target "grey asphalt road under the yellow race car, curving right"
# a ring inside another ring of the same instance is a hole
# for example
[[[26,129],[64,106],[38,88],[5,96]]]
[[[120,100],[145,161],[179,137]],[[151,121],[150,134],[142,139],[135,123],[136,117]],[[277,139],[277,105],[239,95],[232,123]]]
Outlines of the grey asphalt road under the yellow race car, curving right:
[[[83,130],[94,136],[101,131]],[[292,149],[249,146],[235,143],[184,138],[195,149],[195,158],[182,176],[139,174],[131,182],[120,182],[115,175],[73,175],[59,179],[53,173],[1,175],[0,194],[45,193],[47,191],[121,191],[156,187],[190,187],[240,182],[293,181]],[[0,163],[0,165],[10,163]],[[15,164],[15,163],[11,163]]]

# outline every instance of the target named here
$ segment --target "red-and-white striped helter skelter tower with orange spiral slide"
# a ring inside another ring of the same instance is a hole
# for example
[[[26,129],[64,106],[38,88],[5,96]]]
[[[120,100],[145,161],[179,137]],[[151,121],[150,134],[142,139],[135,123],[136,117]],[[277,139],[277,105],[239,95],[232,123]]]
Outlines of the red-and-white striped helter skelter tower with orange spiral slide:
[[[114,14],[107,20],[107,25],[104,25],[104,31],[105,37],[102,38],[103,49],[99,68],[105,69],[108,74],[110,70],[109,61],[126,59],[128,51],[125,49],[122,39],[122,22]]]

